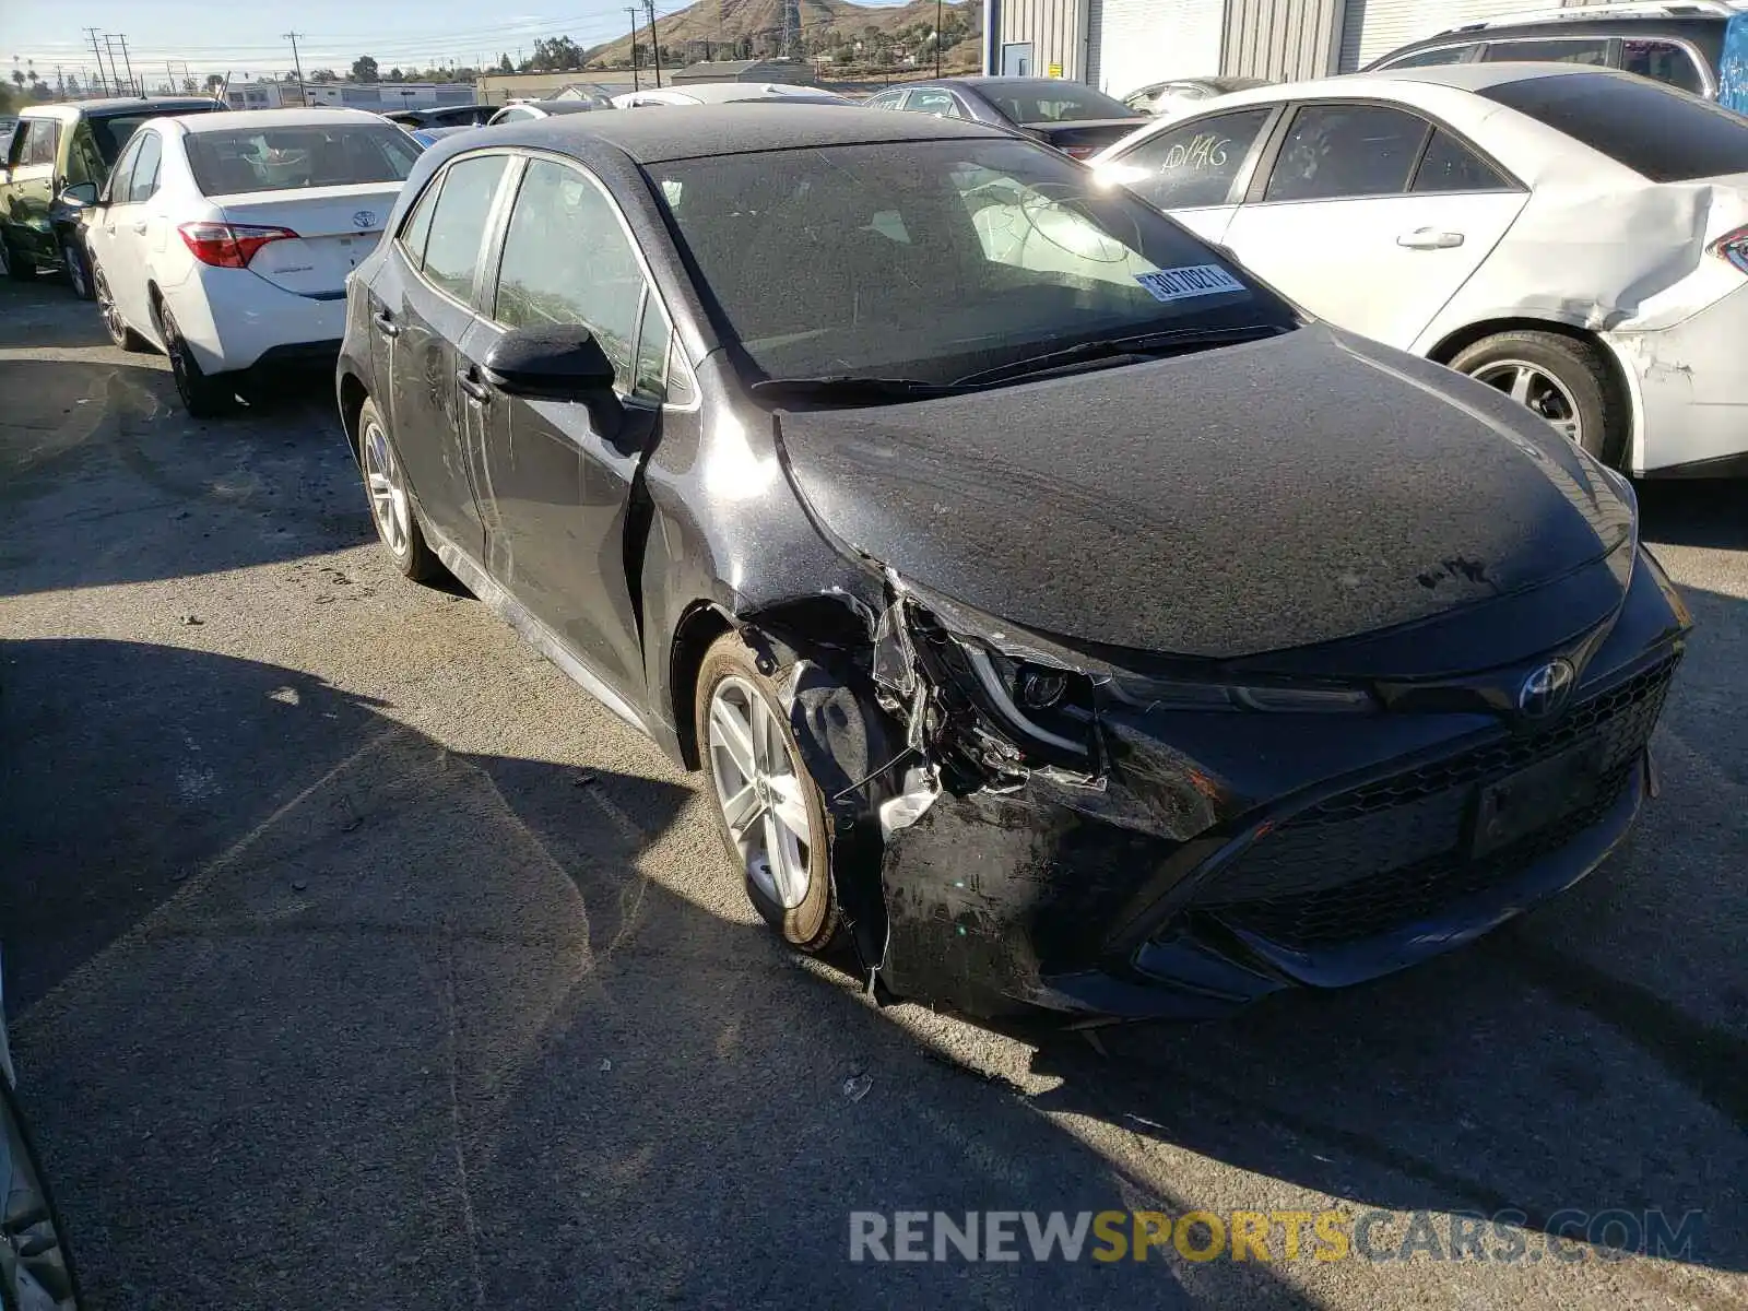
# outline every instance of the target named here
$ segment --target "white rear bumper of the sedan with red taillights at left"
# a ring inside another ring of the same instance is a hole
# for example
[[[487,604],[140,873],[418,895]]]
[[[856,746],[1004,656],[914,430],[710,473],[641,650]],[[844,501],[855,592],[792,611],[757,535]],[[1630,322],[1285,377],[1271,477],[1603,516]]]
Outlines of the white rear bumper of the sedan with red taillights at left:
[[[206,374],[271,367],[299,353],[332,362],[346,330],[344,295],[297,295],[248,269],[201,266],[185,283],[161,290]]]

